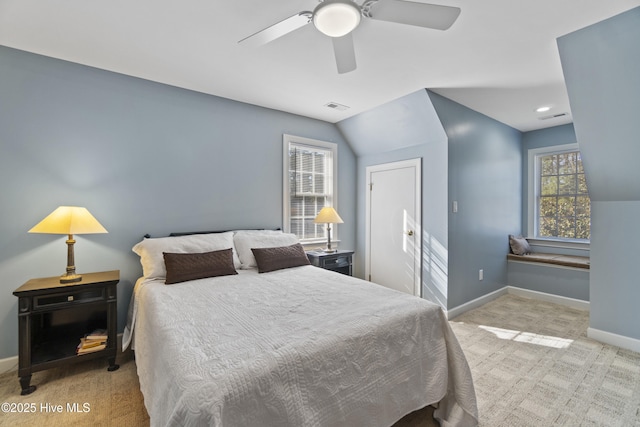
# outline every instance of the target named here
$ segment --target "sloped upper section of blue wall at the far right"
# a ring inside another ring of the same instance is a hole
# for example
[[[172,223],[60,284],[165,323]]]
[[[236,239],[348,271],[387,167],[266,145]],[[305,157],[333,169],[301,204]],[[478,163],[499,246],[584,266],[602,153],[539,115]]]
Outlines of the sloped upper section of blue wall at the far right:
[[[640,200],[640,7],[558,39],[589,194]]]

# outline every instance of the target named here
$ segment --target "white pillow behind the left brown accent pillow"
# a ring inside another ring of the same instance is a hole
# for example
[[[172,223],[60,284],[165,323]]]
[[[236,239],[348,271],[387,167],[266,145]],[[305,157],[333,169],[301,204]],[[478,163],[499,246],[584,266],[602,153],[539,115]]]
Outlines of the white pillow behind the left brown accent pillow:
[[[240,268],[240,259],[233,247],[232,231],[144,239],[137,243],[132,250],[140,256],[142,274],[146,279],[164,279],[167,276],[167,270],[164,265],[163,252],[202,253],[229,248],[233,249],[233,265]]]

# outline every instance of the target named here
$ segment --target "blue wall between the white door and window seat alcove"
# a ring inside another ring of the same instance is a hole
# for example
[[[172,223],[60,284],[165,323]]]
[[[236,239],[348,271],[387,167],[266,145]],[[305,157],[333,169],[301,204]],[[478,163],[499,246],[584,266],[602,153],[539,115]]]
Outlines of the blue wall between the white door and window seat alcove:
[[[435,93],[449,137],[449,309],[507,284],[508,235],[522,218],[521,133]],[[484,270],[484,280],[478,270]]]

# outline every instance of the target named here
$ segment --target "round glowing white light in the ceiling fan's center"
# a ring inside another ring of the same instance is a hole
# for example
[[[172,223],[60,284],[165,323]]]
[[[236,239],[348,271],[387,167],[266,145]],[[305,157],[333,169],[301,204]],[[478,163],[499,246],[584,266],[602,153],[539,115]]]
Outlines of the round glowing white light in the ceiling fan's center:
[[[351,0],[325,0],[313,11],[313,25],[329,37],[342,37],[360,24],[360,9]]]

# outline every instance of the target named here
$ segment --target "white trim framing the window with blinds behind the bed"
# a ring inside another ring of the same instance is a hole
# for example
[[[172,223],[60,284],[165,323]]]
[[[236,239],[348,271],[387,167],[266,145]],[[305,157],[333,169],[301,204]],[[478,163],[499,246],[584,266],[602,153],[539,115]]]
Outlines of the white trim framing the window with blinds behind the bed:
[[[291,143],[297,145],[308,146],[310,148],[320,148],[332,152],[332,195],[331,206],[340,212],[338,209],[338,144],[335,142],[320,141],[317,139],[304,138],[302,136],[295,136],[289,134],[282,135],[282,230],[285,233],[291,232],[291,194],[289,192],[289,145]],[[339,242],[338,239],[338,224],[334,224],[331,227],[331,241]],[[302,244],[315,244],[324,243],[326,238],[322,239],[300,239]]]

